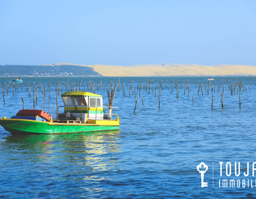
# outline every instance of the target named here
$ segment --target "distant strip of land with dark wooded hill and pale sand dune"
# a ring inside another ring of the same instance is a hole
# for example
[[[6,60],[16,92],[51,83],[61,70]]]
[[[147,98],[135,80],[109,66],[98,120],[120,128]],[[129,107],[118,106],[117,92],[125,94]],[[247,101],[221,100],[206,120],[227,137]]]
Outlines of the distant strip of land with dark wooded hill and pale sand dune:
[[[0,77],[254,77],[256,66],[199,64],[146,64],[132,66],[0,65]]]

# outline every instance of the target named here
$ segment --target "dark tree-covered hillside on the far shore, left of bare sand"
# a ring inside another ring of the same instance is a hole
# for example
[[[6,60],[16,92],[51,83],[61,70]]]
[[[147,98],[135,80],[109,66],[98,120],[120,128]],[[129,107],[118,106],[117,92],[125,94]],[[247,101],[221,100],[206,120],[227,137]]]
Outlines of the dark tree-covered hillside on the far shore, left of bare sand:
[[[91,67],[75,65],[0,65],[0,77],[10,76],[102,76]]]

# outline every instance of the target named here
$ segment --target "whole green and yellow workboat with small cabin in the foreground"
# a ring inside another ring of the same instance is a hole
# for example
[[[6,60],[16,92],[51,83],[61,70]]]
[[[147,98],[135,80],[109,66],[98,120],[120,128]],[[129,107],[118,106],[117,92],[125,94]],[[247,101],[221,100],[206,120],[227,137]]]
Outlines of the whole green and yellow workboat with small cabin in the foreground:
[[[1,118],[0,125],[13,135],[119,130],[120,119],[112,113],[118,107],[103,107],[102,95],[76,91],[65,92],[61,97],[64,106],[57,107],[55,119],[43,110],[23,109],[11,118]],[[64,112],[58,113],[61,107]]]

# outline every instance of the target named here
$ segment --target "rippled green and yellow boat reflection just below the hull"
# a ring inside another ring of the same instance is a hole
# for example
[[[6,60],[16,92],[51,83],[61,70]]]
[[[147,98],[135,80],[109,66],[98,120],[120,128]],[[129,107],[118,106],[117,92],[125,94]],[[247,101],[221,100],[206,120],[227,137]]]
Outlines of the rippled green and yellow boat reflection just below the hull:
[[[54,159],[59,157],[59,153],[75,156],[76,154],[104,155],[110,152],[117,152],[119,151],[119,145],[116,144],[118,134],[119,131],[48,135],[31,134],[26,136],[12,135],[6,137],[5,142],[14,145],[16,150],[21,153],[29,152],[34,154],[31,158],[41,157],[42,154],[47,158],[47,154],[49,154],[51,156],[48,158]],[[53,156],[55,153],[58,154]],[[36,154],[40,156],[35,156]],[[72,159],[71,156],[70,158]]]

